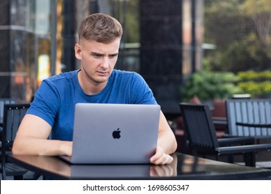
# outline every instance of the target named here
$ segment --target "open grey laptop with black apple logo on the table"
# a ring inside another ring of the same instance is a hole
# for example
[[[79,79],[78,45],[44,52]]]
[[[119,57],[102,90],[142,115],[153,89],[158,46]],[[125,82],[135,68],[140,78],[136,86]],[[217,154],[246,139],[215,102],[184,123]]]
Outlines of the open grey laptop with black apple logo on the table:
[[[149,164],[154,155],[159,105],[77,103],[71,164]]]

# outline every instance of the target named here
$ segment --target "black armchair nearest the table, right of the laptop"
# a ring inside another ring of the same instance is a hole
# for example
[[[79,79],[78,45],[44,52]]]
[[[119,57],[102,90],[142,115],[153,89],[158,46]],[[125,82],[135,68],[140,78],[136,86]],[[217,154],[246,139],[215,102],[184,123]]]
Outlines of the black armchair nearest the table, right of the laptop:
[[[255,167],[255,153],[271,149],[271,144],[254,145],[253,137],[217,139],[211,112],[206,105],[180,103],[180,108],[192,153],[195,156],[198,153],[204,153],[215,155],[217,160],[221,160],[222,155],[243,154],[245,165]],[[237,145],[240,143],[243,145]],[[248,143],[252,145],[244,145]],[[221,147],[221,145],[224,146]]]

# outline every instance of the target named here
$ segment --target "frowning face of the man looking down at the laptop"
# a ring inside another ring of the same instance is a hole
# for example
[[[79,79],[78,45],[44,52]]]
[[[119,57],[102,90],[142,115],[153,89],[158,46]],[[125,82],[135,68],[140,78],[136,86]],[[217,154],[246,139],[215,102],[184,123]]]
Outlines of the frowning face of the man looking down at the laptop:
[[[76,58],[81,60],[82,76],[92,84],[106,84],[117,62],[119,47],[120,39],[106,44],[81,39],[74,49]]]

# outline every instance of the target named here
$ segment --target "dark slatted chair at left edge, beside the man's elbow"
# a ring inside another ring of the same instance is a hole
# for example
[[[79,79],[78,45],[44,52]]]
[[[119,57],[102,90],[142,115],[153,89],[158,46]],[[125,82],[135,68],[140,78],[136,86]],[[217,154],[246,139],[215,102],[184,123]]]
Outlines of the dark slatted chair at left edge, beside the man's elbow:
[[[30,104],[9,104],[4,105],[3,109],[3,132],[1,145],[1,169],[2,178],[13,176],[14,179],[23,179],[28,172],[25,168],[17,166],[8,161],[7,155],[11,154],[11,148],[15,139],[19,124],[26,114]]]

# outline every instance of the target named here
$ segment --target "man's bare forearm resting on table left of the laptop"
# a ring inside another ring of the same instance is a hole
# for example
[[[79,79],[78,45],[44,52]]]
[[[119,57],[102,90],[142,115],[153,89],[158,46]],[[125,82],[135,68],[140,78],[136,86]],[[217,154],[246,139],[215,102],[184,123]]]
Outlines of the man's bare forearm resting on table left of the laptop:
[[[13,144],[14,155],[72,155],[70,141],[35,139],[24,137]]]

